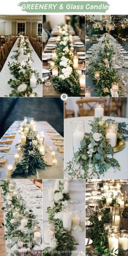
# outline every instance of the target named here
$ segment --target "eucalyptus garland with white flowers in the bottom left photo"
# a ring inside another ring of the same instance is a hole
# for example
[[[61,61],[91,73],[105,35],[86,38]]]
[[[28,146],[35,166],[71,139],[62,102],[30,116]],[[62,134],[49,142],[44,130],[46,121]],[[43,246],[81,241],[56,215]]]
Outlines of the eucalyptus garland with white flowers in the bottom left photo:
[[[5,206],[2,210],[5,212],[6,220],[5,225],[2,223],[2,226],[6,228],[3,239],[9,241],[7,248],[11,249],[12,253],[15,255],[18,254],[18,243],[20,243],[20,246],[22,243],[24,248],[33,249],[36,245],[33,231],[33,225],[37,225],[38,223],[36,216],[33,214],[32,210],[27,209],[22,196],[16,192],[15,182],[1,180],[0,186],[2,187],[2,197]],[[17,215],[14,215],[15,213],[17,213]],[[27,228],[26,231],[18,228],[24,217],[28,220],[27,226],[25,226]]]

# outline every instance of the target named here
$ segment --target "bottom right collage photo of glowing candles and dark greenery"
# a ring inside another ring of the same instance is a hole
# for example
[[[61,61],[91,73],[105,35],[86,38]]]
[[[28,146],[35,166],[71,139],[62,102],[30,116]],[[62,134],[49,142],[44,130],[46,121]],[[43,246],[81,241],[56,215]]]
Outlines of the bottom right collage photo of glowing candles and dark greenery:
[[[97,251],[127,255],[127,184],[127,180],[86,181],[86,188],[91,188],[86,200],[86,255]]]

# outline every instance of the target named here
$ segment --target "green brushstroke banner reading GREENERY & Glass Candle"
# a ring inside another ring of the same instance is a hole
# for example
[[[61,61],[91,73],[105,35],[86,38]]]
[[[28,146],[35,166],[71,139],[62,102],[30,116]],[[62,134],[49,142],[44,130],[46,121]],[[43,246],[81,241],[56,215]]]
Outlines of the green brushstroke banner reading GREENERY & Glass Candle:
[[[93,2],[20,2],[22,11],[26,12],[106,12],[109,4],[102,1]]]

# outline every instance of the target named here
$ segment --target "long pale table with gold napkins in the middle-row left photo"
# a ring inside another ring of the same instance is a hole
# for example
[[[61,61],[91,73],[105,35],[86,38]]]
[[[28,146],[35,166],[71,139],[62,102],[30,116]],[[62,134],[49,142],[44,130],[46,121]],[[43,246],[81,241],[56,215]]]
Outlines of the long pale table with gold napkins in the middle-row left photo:
[[[20,133],[18,133],[18,127],[20,126],[21,121],[15,121],[12,123],[12,125],[9,127],[7,132],[9,130],[14,130],[16,132],[16,136],[13,139],[12,144],[9,144],[10,150],[8,152],[0,152],[1,156],[5,156],[4,158],[7,158],[7,163],[2,167],[0,166],[0,178],[10,178],[10,173],[7,170],[7,165],[14,164],[14,155],[17,153],[16,144],[20,141]],[[46,145],[46,155],[44,156],[44,161],[46,161],[49,165],[52,165],[52,161],[54,158],[51,156],[51,151],[49,150],[49,147],[52,146],[53,150],[55,151],[56,155],[55,158],[57,158],[57,165],[56,166],[49,166],[46,167],[46,170],[37,170],[37,175],[31,175],[28,178],[63,178],[63,153],[59,153],[57,150],[57,146],[54,144],[56,140],[53,140],[52,137],[57,135],[59,136],[60,140],[63,142],[62,136],[55,131],[55,129],[47,122],[47,121],[37,121],[37,131],[43,131],[44,132],[44,144]],[[51,133],[47,132],[47,130],[51,130],[54,133],[53,136],[50,136]],[[59,139],[58,139],[59,140]],[[0,140],[1,144],[1,140]],[[0,148],[1,151],[1,148]],[[20,178],[20,177],[17,177]]]

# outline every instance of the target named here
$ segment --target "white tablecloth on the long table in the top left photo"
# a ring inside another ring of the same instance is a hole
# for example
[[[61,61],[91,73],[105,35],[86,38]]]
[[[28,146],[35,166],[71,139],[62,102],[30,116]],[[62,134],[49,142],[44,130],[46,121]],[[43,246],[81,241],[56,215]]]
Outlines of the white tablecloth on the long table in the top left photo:
[[[9,62],[12,63],[13,61],[16,62],[15,59],[11,59],[11,56],[15,54],[14,50],[18,49],[17,47],[18,40],[19,39],[16,40],[14,46],[12,47],[9,53],[9,56],[5,61],[2,71],[0,73],[0,97],[9,96],[9,94],[13,89],[8,84],[8,81],[10,78],[14,79],[14,76],[10,74],[8,63]],[[34,62],[31,63],[31,68],[36,70],[40,74],[40,78],[42,78],[42,62],[39,56],[36,54],[34,48],[31,46],[28,39],[27,39],[27,42],[29,43],[30,50],[32,50],[31,57],[34,60]],[[37,85],[37,87],[33,89],[33,92],[36,92],[38,97],[42,97],[42,85],[41,84]]]

